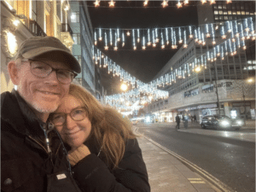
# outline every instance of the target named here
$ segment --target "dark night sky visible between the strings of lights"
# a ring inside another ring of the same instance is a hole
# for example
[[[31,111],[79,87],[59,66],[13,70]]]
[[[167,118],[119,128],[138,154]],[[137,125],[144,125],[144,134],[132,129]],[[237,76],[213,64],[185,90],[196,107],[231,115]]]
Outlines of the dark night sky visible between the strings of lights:
[[[93,3],[94,1],[87,2],[93,28],[155,28],[198,24],[195,2],[191,1],[181,9],[175,7],[177,1],[169,2],[169,7],[166,8],[161,7],[162,1],[149,1],[148,8],[143,7],[143,1],[117,1],[114,8],[108,8],[108,2],[101,1],[98,8],[95,8]],[[119,48],[117,51],[113,48],[105,50],[103,46],[104,42],[97,44],[97,48],[105,55],[144,83],[154,79],[177,51],[170,46],[168,49],[156,47],[133,50],[128,43],[124,49]],[[118,78],[113,78],[106,69],[102,69],[101,74],[102,84],[108,91],[107,95],[117,93]]]

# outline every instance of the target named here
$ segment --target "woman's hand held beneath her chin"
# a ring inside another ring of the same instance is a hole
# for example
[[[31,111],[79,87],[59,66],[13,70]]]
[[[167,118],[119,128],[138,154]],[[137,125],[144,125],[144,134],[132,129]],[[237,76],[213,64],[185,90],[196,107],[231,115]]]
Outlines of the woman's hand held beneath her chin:
[[[83,160],[84,157],[90,154],[89,148],[84,144],[79,146],[79,148],[72,149],[68,152],[67,157],[71,166],[76,165],[80,160]]]

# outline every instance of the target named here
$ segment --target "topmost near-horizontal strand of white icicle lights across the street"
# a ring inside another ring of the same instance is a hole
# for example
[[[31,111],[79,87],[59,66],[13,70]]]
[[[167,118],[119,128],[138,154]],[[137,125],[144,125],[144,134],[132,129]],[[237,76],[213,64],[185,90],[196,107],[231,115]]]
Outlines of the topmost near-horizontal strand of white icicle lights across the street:
[[[238,25],[239,23],[239,25]],[[240,25],[241,24],[241,25]],[[220,26],[219,26],[220,25]],[[137,29],[120,29],[120,28],[96,28],[94,32],[95,45],[98,41],[101,41],[102,32],[107,33],[105,38],[105,47],[108,46],[109,49],[121,49],[127,43],[130,43],[126,36],[132,36],[132,47],[133,49],[146,49],[146,44],[153,48],[160,47],[161,49],[177,49],[177,45],[183,44],[183,47],[186,48],[187,44],[187,31],[189,32],[189,38],[195,38],[195,42],[198,44],[205,45],[206,38],[212,38],[212,44],[216,44],[216,33],[220,33],[223,39],[231,35],[232,42],[236,41],[236,37],[241,34],[239,27],[245,29],[246,38],[255,38],[253,36],[255,29],[253,26],[253,17],[241,19],[241,20],[228,20],[224,23],[210,23],[200,26],[177,26],[177,27],[165,27],[165,28],[137,28]],[[131,33],[130,33],[131,31]],[[185,32],[186,31],[186,32]],[[230,33],[230,34],[229,34]],[[114,34],[114,36],[113,36]],[[116,35],[115,35],[116,34]],[[122,42],[120,42],[120,34],[122,34]],[[113,39],[114,37],[114,39]],[[141,39],[145,39],[145,42]],[[169,45],[169,39],[171,39],[171,46]],[[113,40],[117,41],[116,44],[113,44]],[[178,42],[177,42],[178,40]],[[178,43],[178,44],[177,44]],[[165,44],[166,46],[163,46]]]

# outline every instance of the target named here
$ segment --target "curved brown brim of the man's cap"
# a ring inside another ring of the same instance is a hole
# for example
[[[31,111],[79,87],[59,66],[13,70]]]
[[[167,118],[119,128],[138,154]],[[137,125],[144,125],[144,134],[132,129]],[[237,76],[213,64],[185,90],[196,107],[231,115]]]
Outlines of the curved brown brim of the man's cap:
[[[81,73],[81,67],[80,67],[79,61],[77,61],[77,59],[71,53],[69,53],[63,49],[57,49],[54,47],[44,47],[44,48],[40,47],[37,49],[32,49],[32,50],[27,51],[26,53],[22,54],[22,57],[25,59],[32,59],[39,55],[43,55],[45,53],[49,53],[49,52],[53,52],[53,51],[62,52],[65,55],[68,55],[70,57],[70,59],[72,59],[72,61],[73,61],[73,63],[68,63],[69,67],[71,67],[74,72]]]

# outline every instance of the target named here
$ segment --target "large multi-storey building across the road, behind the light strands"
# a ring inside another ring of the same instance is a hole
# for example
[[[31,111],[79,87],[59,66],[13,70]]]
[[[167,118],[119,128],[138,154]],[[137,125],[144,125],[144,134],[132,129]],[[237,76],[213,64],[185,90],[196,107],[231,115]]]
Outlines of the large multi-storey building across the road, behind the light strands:
[[[198,5],[200,25],[222,25],[226,20],[239,20],[251,15],[255,15],[253,2],[227,4],[218,1],[213,5]],[[222,42],[220,34],[217,34],[216,44]],[[249,83],[247,79],[255,77],[255,42],[248,40],[246,45],[247,49],[239,49],[236,55],[225,55],[223,59],[218,56],[215,61],[207,61],[207,67],[200,72],[191,73],[185,79],[177,79],[172,85],[160,87],[161,90],[169,91],[169,98],[152,102],[145,107],[145,111],[154,113],[155,119],[160,121],[175,121],[177,113],[196,115],[197,119],[216,113],[252,118],[251,113],[255,113],[255,81]],[[190,39],[188,48],[178,49],[154,79],[170,73],[172,68],[195,61],[195,58],[212,48],[211,38],[206,39],[205,45]]]

